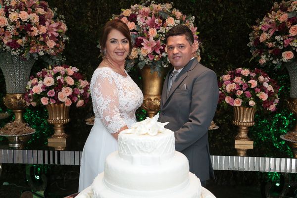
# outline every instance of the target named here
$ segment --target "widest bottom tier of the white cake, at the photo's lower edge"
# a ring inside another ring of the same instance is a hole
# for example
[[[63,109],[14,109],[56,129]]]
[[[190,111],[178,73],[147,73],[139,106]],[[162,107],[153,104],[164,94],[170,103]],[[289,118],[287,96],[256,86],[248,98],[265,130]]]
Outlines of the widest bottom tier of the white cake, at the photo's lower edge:
[[[174,173],[173,173],[174,174]],[[92,198],[200,198],[201,183],[195,174],[188,172],[189,182],[182,189],[175,191],[136,191],[125,190],[126,194],[110,189],[104,183],[104,173],[100,173],[92,184]],[[128,191],[128,192],[127,192]]]

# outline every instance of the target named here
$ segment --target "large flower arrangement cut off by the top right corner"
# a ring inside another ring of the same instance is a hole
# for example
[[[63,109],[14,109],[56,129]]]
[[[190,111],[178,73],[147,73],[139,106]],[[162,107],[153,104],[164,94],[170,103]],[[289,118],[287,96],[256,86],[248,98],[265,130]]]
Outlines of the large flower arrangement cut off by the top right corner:
[[[284,62],[296,61],[297,1],[275,2],[262,21],[252,26],[248,46],[252,59],[262,66],[280,68]]]

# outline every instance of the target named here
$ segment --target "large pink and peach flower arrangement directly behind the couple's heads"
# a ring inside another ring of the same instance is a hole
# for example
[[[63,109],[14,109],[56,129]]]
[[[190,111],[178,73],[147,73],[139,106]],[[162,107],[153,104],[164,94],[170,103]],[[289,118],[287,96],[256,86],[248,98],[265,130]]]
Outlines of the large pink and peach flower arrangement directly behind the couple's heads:
[[[192,30],[196,54],[200,60],[198,32],[197,27],[194,27],[195,17],[186,16],[178,9],[172,8],[172,3],[155,4],[151,1],[148,6],[135,4],[130,9],[122,9],[120,15],[113,15],[112,18],[121,19],[131,32],[134,48],[130,59],[126,61],[127,71],[135,64],[140,69],[150,65],[151,71],[160,71],[163,67],[168,67],[165,34],[178,24],[188,26]]]

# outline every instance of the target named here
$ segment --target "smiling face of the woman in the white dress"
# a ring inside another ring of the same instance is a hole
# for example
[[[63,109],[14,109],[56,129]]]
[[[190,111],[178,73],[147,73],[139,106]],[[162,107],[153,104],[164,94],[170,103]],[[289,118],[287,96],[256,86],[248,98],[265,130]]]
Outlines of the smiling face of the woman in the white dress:
[[[106,57],[116,63],[125,61],[129,55],[129,41],[118,30],[111,30],[106,40]]]

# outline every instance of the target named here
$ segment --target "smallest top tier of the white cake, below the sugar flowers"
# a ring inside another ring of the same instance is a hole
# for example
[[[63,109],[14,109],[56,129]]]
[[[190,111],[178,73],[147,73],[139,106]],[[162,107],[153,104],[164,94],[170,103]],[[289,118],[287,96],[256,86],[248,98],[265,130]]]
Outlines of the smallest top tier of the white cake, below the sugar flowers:
[[[152,165],[174,155],[174,133],[168,129],[156,136],[120,133],[119,156],[133,164]]]

